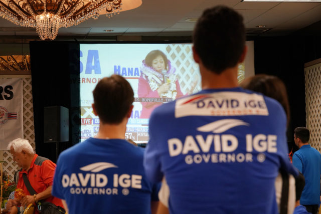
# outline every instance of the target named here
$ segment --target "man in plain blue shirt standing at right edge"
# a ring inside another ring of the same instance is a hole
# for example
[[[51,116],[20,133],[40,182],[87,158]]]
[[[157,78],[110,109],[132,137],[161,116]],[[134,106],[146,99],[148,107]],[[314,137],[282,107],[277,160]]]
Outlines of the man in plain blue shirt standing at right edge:
[[[321,154],[309,145],[309,139],[310,131],[307,128],[294,129],[294,142],[299,150],[294,152],[292,161],[305,178],[300,204],[315,214],[320,203]]]

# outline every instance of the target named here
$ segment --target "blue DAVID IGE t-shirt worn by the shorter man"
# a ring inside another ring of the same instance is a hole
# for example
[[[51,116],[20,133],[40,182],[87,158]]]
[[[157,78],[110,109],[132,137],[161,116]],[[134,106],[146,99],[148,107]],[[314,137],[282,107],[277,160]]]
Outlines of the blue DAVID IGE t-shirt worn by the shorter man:
[[[96,139],[63,151],[52,194],[66,200],[69,213],[150,213],[160,184],[143,170],[143,149],[121,139]]]

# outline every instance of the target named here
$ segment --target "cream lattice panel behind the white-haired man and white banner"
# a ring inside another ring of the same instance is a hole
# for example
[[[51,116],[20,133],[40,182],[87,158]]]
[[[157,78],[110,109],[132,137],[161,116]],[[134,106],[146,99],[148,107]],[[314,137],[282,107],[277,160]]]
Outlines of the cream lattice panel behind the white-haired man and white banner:
[[[35,149],[35,129],[34,129],[34,109],[32,100],[32,85],[31,85],[31,75],[24,75],[22,78],[24,82],[24,98],[23,98],[23,108],[24,108],[24,138],[31,142],[32,147]],[[7,172],[11,178],[13,178],[14,173],[19,169],[19,167],[14,162],[12,155],[9,151],[3,151],[4,157],[4,171]]]

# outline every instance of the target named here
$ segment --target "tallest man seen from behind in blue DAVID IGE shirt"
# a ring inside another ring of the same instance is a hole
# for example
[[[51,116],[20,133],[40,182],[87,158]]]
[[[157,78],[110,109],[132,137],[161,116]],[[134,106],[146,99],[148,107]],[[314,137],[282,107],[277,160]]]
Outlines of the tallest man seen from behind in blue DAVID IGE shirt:
[[[238,87],[247,51],[242,16],[224,6],[206,10],[193,43],[203,90],[152,112],[146,175],[165,176],[170,213],[277,213],[278,170],[298,171],[282,106]]]

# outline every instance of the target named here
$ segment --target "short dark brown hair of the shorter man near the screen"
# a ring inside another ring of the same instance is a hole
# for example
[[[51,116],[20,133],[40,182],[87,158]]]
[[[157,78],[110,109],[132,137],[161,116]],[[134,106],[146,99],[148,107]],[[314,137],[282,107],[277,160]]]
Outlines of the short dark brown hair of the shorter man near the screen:
[[[94,91],[94,105],[102,123],[119,124],[128,113],[134,92],[125,78],[112,75],[101,79]]]

